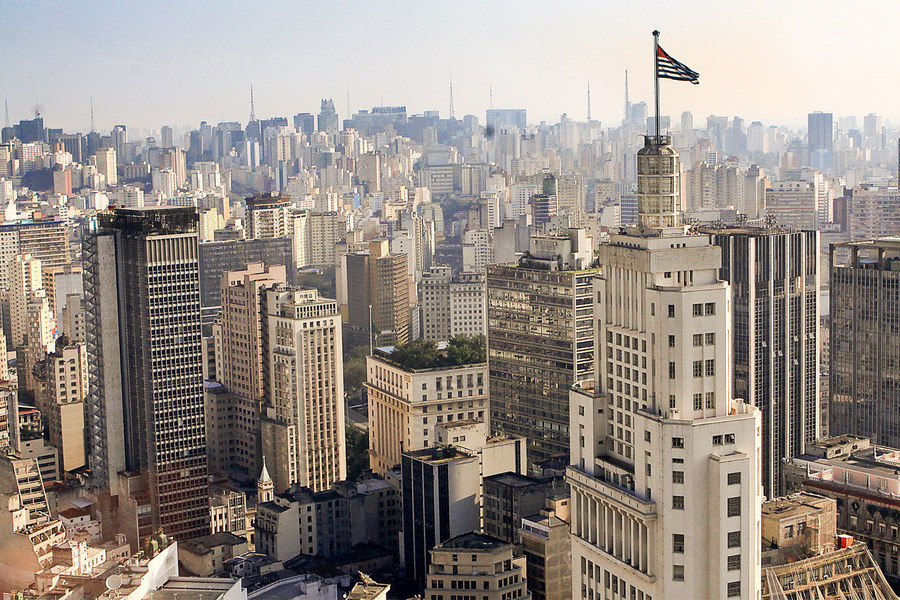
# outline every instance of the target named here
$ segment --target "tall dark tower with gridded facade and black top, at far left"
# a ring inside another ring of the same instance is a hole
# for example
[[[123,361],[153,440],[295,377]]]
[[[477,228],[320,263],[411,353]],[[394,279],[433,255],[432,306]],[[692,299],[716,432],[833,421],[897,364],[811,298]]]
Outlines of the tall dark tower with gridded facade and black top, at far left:
[[[87,427],[120,531],[209,532],[197,212],[119,208],[84,242]]]

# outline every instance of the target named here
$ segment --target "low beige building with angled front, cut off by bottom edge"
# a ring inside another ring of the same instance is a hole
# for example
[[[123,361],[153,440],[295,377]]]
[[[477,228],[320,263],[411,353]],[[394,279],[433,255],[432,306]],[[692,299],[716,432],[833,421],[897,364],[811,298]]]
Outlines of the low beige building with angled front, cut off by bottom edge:
[[[431,551],[424,598],[530,600],[524,557],[515,546],[481,533],[464,533]]]

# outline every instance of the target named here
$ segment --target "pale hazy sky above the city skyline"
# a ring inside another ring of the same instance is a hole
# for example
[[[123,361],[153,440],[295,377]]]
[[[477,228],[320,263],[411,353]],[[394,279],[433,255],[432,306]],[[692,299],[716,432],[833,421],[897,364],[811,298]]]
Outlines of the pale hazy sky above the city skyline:
[[[857,5],[859,6],[857,8]],[[0,99],[10,119],[87,130],[155,129],[201,120],[317,113],[334,98],[341,118],[405,104],[410,114],[483,121],[495,108],[528,120],[563,112],[604,125],[622,119],[624,71],[632,101],[652,102],[652,37],[700,72],[700,85],[662,82],[662,112],[805,124],[836,116],[897,116],[900,3],[820,0],[0,0]],[[896,122],[896,119],[894,119]]]

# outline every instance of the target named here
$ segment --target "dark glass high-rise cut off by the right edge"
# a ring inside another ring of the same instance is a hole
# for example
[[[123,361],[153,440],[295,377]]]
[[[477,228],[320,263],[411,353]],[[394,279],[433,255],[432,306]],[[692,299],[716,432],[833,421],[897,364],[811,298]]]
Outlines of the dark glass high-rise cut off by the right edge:
[[[900,448],[900,241],[831,246],[828,433]]]

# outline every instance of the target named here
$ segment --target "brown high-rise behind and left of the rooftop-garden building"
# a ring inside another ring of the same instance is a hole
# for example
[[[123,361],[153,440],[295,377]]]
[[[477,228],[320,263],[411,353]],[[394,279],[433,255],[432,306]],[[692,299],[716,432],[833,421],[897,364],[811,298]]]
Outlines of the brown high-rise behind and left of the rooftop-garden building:
[[[409,257],[389,248],[388,240],[375,240],[344,259],[349,325],[378,346],[405,344],[410,335]]]

